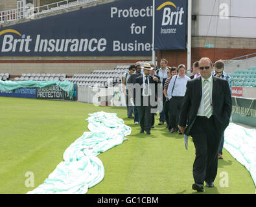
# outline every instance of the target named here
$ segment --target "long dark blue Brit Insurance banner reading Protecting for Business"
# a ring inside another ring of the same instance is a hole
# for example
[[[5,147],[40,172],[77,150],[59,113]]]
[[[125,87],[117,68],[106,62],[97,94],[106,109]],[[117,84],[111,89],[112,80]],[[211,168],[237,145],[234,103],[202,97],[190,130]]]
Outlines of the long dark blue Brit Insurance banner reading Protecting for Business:
[[[0,28],[0,56],[147,56],[152,0],[119,0]]]

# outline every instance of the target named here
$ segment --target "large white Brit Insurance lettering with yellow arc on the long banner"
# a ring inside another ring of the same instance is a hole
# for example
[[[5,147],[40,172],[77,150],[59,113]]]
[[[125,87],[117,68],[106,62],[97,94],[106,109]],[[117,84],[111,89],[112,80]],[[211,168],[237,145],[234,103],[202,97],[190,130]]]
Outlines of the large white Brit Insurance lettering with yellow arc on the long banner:
[[[0,31],[0,52],[102,52],[106,45],[105,38],[43,39],[41,34],[33,34],[32,38],[14,29]]]

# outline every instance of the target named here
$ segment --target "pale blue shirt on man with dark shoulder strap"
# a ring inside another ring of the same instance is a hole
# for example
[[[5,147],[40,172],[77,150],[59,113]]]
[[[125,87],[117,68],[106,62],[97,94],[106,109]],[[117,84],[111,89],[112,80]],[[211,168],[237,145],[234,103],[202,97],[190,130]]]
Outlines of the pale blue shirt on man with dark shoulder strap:
[[[172,98],[172,96],[185,96],[186,89],[187,89],[187,82],[191,80],[191,78],[189,78],[188,76],[183,76],[183,78],[180,78],[180,75],[176,75],[176,76],[172,77],[167,89],[167,95],[169,99]],[[174,85],[174,82],[175,82],[175,85]],[[172,92],[173,86],[174,86],[174,89]]]

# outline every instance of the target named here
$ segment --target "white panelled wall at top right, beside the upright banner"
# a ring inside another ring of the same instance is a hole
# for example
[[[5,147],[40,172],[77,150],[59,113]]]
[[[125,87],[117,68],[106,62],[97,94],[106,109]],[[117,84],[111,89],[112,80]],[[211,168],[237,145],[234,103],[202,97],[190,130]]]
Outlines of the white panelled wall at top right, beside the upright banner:
[[[193,0],[192,36],[256,38],[255,0]]]

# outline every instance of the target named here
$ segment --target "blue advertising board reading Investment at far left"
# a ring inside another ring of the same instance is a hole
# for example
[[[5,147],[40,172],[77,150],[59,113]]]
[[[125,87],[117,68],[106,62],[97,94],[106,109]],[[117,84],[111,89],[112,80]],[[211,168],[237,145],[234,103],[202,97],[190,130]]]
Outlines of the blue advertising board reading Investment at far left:
[[[36,98],[36,88],[19,88],[11,91],[0,91],[0,96]]]

